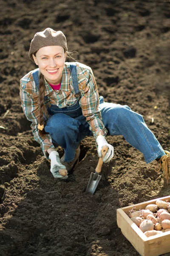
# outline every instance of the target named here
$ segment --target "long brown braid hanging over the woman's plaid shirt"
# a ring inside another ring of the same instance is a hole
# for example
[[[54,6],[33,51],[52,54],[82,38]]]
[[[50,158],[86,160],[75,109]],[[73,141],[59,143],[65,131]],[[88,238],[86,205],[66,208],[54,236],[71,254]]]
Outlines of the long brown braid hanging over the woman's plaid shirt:
[[[40,73],[40,81],[39,81],[39,102],[40,102],[40,118],[39,118],[39,123],[40,125],[44,125],[45,126],[45,121],[43,119],[43,114],[45,113],[46,116],[48,116],[48,111],[45,108],[45,104],[44,104],[44,96],[45,96],[45,83],[44,83],[44,76],[42,75],[42,73]],[[44,128],[43,130],[39,130],[39,134],[46,134]]]

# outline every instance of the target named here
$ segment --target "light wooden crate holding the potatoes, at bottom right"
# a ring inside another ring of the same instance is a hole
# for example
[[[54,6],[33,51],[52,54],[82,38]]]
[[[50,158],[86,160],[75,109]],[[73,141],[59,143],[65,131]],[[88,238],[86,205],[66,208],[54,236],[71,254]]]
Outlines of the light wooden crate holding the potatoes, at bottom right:
[[[159,256],[170,252],[170,231],[147,237],[128,217],[129,211],[133,207],[135,207],[136,210],[144,209],[148,204],[155,204],[158,199],[170,202],[170,196],[166,196],[117,209],[118,227],[121,228],[122,234],[142,256]]]

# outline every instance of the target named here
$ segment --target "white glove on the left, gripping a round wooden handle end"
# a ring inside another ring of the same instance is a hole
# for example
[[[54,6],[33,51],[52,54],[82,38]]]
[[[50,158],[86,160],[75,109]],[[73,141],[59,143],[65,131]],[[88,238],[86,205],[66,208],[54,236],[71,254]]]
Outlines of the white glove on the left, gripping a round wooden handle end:
[[[52,151],[49,154],[49,158],[51,160],[50,171],[52,172],[53,176],[59,179],[67,179],[68,175],[62,176],[59,174],[59,169],[66,169],[65,166],[60,162],[59,153],[57,151]]]

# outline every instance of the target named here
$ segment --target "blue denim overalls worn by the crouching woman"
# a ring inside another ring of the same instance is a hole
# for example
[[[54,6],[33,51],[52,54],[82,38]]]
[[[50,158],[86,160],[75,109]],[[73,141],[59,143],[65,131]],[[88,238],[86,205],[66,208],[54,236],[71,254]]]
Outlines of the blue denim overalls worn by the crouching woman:
[[[39,69],[33,71],[33,78],[39,90]],[[70,63],[77,102],[65,108],[57,105],[48,105],[50,115],[45,126],[45,131],[52,138],[54,146],[60,145],[65,150],[65,162],[71,162],[75,157],[75,150],[86,136],[91,136],[89,124],[79,105],[81,97],[77,81],[77,67],[75,62]],[[48,96],[44,97],[46,100]],[[132,111],[127,105],[104,102],[99,97],[99,108],[102,113],[102,121],[109,135],[123,135],[130,145],[137,148],[144,155],[146,163],[150,163],[164,155],[164,150],[154,134],[144,122],[142,115]],[[123,148],[122,148],[123,150]]]

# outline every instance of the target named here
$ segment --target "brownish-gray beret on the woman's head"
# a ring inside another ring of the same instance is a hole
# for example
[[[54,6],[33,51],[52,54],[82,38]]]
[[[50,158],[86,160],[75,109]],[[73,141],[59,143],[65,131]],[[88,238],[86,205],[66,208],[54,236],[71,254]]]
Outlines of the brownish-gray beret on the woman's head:
[[[55,31],[51,28],[47,28],[44,31],[37,32],[31,41],[29,49],[29,58],[34,62],[32,54],[37,52],[42,47],[59,45],[67,51],[67,41],[62,31]]]

